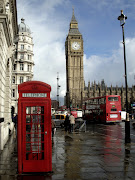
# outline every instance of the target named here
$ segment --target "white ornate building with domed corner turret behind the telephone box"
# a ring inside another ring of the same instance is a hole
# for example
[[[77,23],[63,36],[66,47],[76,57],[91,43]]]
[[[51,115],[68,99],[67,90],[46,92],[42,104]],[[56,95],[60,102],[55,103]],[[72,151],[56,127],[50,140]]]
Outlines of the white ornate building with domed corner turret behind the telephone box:
[[[17,52],[13,64],[12,73],[12,115],[17,113],[18,84],[33,79],[33,38],[30,28],[22,18],[18,26]]]

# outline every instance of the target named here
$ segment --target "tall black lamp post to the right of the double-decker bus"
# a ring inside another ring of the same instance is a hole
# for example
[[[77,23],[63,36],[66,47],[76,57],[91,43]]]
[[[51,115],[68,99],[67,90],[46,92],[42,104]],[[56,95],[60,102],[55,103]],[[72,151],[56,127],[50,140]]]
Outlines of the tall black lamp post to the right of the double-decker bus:
[[[125,88],[126,88],[126,121],[125,121],[125,143],[130,143],[130,121],[128,114],[128,93],[127,93],[127,68],[126,68],[126,50],[125,50],[125,37],[124,37],[124,24],[127,16],[123,14],[123,10],[121,10],[121,15],[118,17],[120,20],[120,25],[122,26],[122,34],[123,34],[123,50],[124,50],[124,67],[125,67]]]

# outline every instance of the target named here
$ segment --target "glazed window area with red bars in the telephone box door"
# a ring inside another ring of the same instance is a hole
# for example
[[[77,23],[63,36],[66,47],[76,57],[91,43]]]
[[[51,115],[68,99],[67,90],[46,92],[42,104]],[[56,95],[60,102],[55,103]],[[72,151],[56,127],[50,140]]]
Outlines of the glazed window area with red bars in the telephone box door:
[[[26,107],[26,160],[44,159],[44,106]]]

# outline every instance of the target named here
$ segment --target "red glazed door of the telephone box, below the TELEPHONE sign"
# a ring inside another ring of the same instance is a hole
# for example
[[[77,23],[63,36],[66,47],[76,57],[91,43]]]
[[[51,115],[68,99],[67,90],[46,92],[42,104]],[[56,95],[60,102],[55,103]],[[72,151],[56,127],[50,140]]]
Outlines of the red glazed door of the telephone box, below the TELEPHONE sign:
[[[23,172],[47,171],[50,139],[47,102],[23,102],[22,105]]]

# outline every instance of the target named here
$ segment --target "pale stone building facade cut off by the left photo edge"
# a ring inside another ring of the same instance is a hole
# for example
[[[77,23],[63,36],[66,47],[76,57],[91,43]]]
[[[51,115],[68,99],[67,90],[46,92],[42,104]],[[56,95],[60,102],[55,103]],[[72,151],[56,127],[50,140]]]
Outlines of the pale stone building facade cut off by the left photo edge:
[[[0,0],[0,150],[14,128],[11,118],[11,79],[17,33],[16,0]]]

